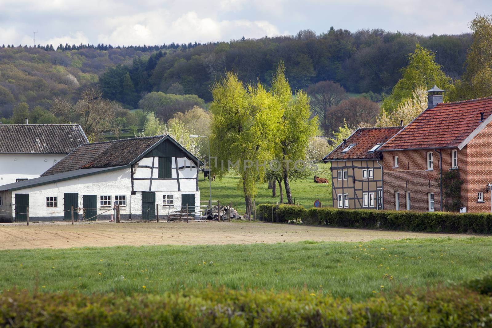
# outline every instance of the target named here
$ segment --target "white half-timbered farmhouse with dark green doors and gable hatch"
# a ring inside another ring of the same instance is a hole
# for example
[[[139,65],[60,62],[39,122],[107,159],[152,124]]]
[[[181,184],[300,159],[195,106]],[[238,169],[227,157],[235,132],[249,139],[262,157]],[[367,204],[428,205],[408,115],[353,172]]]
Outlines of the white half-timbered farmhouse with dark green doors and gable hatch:
[[[115,203],[122,219],[153,219],[200,204],[200,161],[170,136],[85,144],[40,178],[0,186],[0,220],[109,219]],[[8,213],[8,212],[13,213]],[[1,214],[6,213],[6,214]],[[2,218],[3,216],[3,218]]]

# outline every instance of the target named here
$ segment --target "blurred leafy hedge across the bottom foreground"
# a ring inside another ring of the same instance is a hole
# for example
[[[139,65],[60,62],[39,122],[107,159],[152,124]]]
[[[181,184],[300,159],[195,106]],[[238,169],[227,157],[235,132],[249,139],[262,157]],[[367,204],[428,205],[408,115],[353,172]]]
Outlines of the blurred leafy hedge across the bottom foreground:
[[[363,302],[308,291],[164,295],[0,294],[0,327],[491,327],[492,302],[436,289]]]

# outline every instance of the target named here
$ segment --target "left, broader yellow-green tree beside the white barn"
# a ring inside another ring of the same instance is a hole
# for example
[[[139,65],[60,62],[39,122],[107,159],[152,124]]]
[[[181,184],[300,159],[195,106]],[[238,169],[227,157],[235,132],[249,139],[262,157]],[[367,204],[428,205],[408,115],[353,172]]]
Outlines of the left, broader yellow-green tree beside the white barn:
[[[251,209],[273,158],[283,112],[263,85],[245,87],[232,72],[212,86],[212,96],[210,145],[217,158],[212,170],[219,179],[228,173],[240,175],[238,188],[244,192],[246,209]]]

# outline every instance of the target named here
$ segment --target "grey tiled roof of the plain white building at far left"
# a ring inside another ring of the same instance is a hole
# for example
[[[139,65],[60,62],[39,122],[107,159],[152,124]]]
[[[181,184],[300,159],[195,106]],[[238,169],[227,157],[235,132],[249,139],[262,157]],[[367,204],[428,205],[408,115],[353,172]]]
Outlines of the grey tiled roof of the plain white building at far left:
[[[0,124],[0,153],[68,154],[88,142],[79,124]]]

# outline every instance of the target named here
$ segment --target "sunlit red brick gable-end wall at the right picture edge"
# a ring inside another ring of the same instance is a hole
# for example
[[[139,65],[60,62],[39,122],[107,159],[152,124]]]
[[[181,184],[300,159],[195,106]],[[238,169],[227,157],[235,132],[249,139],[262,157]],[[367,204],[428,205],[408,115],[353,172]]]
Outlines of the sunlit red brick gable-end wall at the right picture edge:
[[[491,212],[491,192],[485,191],[492,183],[492,122],[484,127],[463,149],[466,149],[467,179],[462,199],[468,212]],[[478,191],[484,192],[484,203],[478,203]]]

